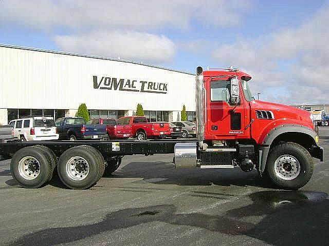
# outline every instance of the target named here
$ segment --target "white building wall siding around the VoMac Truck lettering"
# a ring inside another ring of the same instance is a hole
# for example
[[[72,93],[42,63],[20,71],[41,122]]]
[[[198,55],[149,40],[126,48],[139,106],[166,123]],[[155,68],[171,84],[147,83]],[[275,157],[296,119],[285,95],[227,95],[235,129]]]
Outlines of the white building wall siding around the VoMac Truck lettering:
[[[94,89],[93,76],[167,84],[167,94]],[[195,111],[194,75],[115,60],[0,47],[0,108]]]

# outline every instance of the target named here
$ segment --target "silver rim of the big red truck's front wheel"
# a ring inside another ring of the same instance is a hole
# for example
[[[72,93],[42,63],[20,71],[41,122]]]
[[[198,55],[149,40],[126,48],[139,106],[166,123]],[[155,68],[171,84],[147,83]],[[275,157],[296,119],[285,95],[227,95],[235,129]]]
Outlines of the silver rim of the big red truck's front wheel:
[[[275,172],[281,179],[295,179],[300,173],[300,163],[292,155],[281,155],[275,161]]]

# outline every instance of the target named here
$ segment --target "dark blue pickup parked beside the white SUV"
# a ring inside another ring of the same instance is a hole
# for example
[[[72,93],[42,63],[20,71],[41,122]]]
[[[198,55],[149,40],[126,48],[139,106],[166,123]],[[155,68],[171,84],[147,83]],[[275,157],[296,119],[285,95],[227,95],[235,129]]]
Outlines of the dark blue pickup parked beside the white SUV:
[[[64,117],[55,121],[61,140],[107,139],[106,125],[86,125],[82,117]]]

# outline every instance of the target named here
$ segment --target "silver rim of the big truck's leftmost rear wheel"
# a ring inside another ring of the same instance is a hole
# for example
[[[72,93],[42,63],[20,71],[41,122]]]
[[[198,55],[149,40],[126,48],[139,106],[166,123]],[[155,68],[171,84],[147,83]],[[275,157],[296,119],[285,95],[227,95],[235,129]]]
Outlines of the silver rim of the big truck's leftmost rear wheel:
[[[33,180],[40,174],[40,163],[32,156],[25,156],[19,161],[19,173],[27,180]]]

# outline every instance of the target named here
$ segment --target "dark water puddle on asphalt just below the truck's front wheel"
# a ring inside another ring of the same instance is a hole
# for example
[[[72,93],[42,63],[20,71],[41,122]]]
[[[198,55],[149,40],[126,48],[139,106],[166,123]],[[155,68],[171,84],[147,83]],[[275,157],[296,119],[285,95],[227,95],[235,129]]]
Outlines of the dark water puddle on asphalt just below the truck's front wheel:
[[[252,204],[227,212],[233,217],[260,216],[276,212],[290,206],[300,206],[320,202],[328,196],[324,192],[313,191],[261,191],[249,195]]]

